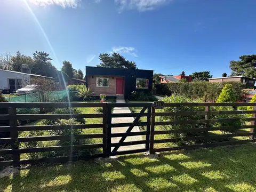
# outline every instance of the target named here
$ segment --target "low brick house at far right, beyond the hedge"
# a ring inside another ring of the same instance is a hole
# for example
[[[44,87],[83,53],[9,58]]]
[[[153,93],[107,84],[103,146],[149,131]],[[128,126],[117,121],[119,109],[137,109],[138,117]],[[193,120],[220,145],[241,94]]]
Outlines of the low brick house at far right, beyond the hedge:
[[[244,83],[246,87],[254,87],[255,80],[256,79],[245,77],[245,76],[209,78],[209,82],[211,83],[237,81],[237,82]]]

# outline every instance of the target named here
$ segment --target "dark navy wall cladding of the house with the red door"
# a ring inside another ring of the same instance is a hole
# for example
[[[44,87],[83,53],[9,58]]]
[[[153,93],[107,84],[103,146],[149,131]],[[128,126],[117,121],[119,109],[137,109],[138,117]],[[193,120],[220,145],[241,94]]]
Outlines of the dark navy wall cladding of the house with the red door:
[[[110,76],[109,81],[114,77],[124,77],[124,95],[125,98],[132,91],[152,91],[153,87],[153,70],[141,70],[141,69],[118,69],[118,68],[103,68],[103,67],[87,67],[86,70],[86,85],[89,86],[88,79],[90,76]],[[148,79],[148,89],[137,89],[136,78]],[[96,83],[96,80],[95,80]],[[94,85],[93,85],[94,86]],[[96,85],[95,85],[96,86]],[[91,86],[90,86],[91,87]],[[101,92],[102,93],[102,92]],[[114,93],[111,90],[111,93]],[[106,94],[106,93],[105,93]]]

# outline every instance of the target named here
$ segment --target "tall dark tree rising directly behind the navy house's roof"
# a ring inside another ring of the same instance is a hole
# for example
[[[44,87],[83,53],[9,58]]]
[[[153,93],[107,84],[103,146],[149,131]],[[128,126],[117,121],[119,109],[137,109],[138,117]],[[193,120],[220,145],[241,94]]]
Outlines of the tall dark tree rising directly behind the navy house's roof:
[[[113,53],[111,55],[102,53],[99,56],[99,60],[101,60],[101,63],[97,65],[97,67],[137,69],[134,61],[126,60],[125,57],[119,53]]]

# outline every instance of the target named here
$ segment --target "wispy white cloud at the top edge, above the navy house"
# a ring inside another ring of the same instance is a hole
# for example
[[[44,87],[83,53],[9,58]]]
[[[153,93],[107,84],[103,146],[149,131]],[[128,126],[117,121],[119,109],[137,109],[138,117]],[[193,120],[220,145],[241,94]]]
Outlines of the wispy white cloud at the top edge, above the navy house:
[[[150,11],[156,7],[167,4],[172,0],[115,0],[119,11],[124,9],[136,9],[138,11]]]

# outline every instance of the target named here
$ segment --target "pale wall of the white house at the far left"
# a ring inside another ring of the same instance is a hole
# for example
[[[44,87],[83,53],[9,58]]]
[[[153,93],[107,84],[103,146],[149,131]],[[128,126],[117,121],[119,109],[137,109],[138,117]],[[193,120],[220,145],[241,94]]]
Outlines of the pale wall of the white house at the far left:
[[[30,75],[28,74],[19,74],[11,71],[4,71],[0,70],[0,89],[3,90],[4,88],[9,87],[8,79],[21,79],[21,86],[26,86],[27,83],[30,82]]]

